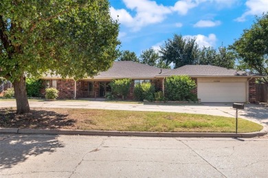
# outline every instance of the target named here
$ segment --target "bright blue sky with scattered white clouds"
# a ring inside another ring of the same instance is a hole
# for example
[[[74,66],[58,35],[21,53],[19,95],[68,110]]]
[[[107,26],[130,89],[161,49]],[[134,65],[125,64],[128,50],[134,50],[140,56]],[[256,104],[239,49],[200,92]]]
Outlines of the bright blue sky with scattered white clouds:
[[[120,49],[137,56],[159,49],[174,34],[197,38],[200,47],[228,46],[251,27],[268,0],[109,0],[120,23]]]

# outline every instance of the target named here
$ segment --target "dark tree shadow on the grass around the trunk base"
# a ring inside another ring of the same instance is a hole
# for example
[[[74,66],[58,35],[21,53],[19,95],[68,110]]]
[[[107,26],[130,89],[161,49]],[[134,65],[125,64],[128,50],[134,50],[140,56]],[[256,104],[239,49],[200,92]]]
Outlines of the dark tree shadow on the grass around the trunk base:
[[[76,120],[49,110],[31,110],[27,114],[16,114],[14,108],[0,109],[0,127],[31,128],[31,129],[60,129],[74,126]]]

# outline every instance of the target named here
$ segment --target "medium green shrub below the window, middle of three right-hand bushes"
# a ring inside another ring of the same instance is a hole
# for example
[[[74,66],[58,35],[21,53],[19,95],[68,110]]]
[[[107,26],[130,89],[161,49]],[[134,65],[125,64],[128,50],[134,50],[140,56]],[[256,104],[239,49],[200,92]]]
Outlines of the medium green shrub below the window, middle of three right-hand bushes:
[[[150,83],[137,84],[134,87],[134,98],[138,101],[154,101],[155,86]]]

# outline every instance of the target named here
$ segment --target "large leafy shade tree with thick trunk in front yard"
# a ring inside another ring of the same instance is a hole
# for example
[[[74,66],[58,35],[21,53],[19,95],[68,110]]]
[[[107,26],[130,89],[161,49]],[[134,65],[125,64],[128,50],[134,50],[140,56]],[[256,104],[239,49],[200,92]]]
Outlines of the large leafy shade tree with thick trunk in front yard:
[[[79,79],[111,67],[118,29],[107,0],[1,0],[0,77],[12,81],[17,113],[30,112],[25,77]]]

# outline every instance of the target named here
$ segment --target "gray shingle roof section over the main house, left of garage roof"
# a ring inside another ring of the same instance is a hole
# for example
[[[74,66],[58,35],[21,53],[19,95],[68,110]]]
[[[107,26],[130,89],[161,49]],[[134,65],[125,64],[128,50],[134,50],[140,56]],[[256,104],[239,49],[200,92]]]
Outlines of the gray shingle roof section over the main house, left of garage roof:
[[[115,61],[108,71],[96,75],[94,79],[120,79],[120,78],[154,78],[159,73],[166,73],[170,69],[161,69],[146,64],[131,61]]]

